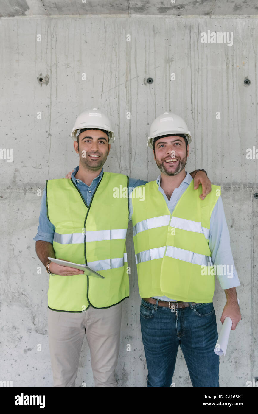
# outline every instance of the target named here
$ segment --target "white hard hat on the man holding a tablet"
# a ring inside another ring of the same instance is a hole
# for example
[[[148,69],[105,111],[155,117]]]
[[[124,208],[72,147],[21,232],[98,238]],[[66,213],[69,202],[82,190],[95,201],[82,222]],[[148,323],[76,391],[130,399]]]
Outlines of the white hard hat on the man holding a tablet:
[[[106,130],[109,132],[109,143],[113,142],[116,138],[109,118],[97,108],[89,109],[80,113],[76,118],[75,126],[72,128],[71,137],[73,141],[77,140],[78,132],[80,129],[92,128]]]

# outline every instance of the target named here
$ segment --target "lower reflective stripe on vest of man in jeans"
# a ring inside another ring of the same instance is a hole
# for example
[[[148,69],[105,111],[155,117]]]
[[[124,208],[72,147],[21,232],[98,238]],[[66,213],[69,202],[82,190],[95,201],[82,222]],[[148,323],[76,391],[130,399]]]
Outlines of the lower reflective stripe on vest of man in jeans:
[[[193,263],[194,265],[207,266],[208,263],[212,264],[210,256],[200,255],[174,246],[167,246],[167,249],[166,246],[162,246],[137,253],[137,255],[135,255],[136,264],[147,262],[147,260],[162,259],[164,254],[170,258],[183,260],[185,262]]]

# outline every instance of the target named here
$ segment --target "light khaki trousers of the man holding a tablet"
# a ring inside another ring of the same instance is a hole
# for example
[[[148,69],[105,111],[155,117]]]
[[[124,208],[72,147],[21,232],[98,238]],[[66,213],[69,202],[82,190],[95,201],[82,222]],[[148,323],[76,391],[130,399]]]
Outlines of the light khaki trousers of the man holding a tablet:
[[[48,342],[54,387],[75,387],[84,335],[89,344],[95,387],[117,387],[122,303],[82,313],[48,308]]]

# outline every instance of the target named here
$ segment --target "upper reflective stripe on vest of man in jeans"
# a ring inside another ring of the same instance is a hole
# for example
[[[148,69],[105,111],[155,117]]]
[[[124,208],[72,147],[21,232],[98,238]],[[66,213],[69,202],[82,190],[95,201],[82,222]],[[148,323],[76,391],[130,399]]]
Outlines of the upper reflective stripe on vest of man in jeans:
[[[169,220],[170,216],[167,215],[139,221],[139,223],[133,226],[133,236],[136,236],[136,234],[140,233],[141,231],[155,229],[156,227],[171,226],[176,229],[194,231],[195,233],[203,233],[205,238],[207,240],[209,239],[210,229],[203,227],[200,221],[181,219],[180,217],[171,217],[170,223]]]

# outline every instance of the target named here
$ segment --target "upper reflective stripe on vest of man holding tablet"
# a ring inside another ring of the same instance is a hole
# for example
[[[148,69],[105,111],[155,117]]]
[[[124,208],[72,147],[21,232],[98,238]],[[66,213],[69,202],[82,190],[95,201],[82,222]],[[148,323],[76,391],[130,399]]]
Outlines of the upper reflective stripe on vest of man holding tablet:
[[[85,241],[121,240],[126,236],[127,229],[85,231]],[[54,233],[54,240],[60,244],[84,243],[83,233]]]

